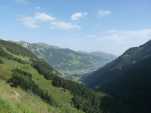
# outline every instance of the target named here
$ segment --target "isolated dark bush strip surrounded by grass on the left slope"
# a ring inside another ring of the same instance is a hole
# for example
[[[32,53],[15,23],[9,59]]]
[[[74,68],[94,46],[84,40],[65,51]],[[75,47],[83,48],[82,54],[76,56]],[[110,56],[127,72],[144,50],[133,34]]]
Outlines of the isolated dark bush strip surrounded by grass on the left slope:
[[[35,82],[32,80],[32,75],[30,73],[15,69],[13,70],[12,78],[8,80],[8,83],[12,87],[20,86],[26,91],[29,90],[34,94],[40,96],[47,103],[51,105],[56,105],[48,91],[39,88],[39,86],[35,84]]]

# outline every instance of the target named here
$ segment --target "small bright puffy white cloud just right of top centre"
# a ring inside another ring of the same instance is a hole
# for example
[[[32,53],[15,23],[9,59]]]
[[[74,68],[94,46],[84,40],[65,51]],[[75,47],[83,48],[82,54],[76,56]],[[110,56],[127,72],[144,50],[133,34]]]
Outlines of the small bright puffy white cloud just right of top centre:
[[[80,20],[81,18],[83,18],[87,15],[88,15],[87,12],[76,12],[76,13],[71,15],[71,20],[78,21],[78,20]]]

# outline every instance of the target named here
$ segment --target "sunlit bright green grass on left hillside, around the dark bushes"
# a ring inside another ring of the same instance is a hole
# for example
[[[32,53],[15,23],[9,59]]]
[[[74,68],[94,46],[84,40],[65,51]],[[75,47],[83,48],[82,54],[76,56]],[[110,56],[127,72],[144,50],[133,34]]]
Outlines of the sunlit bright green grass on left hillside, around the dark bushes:
[[[29,63],[28,56],[14,54],[11,50],[4,49],[6,53],[21,60],[28,61],[26,64],[0,57],[0,113],[82,113],[71,105],[72,95],[69,91],[54,87],[51,81],[46,80]],[[20,69],[32,74],[33,81],[40,88],[47,90],[58,106],[50,106],[38,96],[26,92],[21,88],[12,88],[6,81],[12,76],[13,69]],[[38,106],[38,107],[37,107]]]

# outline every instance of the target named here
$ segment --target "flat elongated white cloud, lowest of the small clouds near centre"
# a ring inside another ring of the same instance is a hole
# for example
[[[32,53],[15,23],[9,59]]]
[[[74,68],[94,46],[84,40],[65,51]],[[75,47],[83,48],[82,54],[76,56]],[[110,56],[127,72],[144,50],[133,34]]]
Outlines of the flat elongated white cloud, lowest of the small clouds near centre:
[[[70,30],[70,29],[80,29],[80,26],[75,25],[70,22],[64,21],[55,21],[51,23],[55,28],[63,29],[63,30]]]

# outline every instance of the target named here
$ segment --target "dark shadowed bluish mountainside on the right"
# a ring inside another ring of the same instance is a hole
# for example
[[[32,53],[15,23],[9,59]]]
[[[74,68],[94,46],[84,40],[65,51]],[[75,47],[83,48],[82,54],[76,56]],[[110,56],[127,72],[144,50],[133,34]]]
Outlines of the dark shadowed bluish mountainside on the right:
[[[84,78],[84,82],[114,97],[108,102],[112,103],[112,112],[150,113],[151,41],[127,50],[113,62]]]

